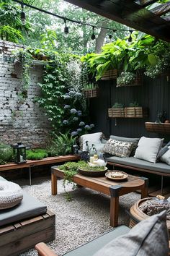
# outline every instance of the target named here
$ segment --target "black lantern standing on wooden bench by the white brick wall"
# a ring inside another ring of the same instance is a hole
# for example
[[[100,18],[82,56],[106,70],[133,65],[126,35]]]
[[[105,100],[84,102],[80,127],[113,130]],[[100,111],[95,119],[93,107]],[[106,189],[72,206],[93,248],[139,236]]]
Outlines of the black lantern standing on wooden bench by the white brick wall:
[[[12,145],[14,153],[15,163],[25,163],[26,162],[26,147],[22,145],[22,142],[17,142],[17,144]]]

